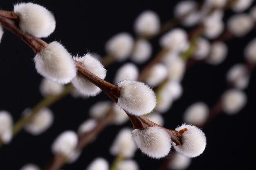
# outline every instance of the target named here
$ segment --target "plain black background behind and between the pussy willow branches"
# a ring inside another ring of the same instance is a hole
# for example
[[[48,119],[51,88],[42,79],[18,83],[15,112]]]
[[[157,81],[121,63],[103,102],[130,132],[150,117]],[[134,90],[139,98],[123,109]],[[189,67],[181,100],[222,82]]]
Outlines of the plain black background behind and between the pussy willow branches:
[[[0,8],[12,10],[18,0],[1,0]],[[29,2],[24,0],[22,2]],[[162,23],[173,18],[173,9],[178,0],[171,1],[46,1],[35,3],[52,11],[56,18],[56,30],[46,42],[60,41],[76,55],[88,51],[106,54],[105,42],[116,33],[126,31],[135,35],[133,22],[137,15],[146,9],[158,13]],[[247,10],[248,11],[248,10]],[[245,11],[245,12],[247,12]],[[224,20],[234,13],[227,10]],[[180,25],[178,26],[180,27]],[[187,29],[190,30],[190,29]],[[199,63],[186,71],[182,86],[182,97],[164,114],[165,127],[175,129],[181,125],[184,110],[192,103],[204,101],[213,106],[226,88],[225,74],[234,64],[245,63],[243,49],[249,40],[256,35],[255,29],[243,38],[229,40],[227,59],[218,66]],[[151,41],[153,55],[159,51],[158,38]],[[34,106],[43,97],[38,90],[41,76],[36,73],[32,58],[34,53],[29,47],[9,31],[5,31],[0,44],[0,110],[8,110],[14,121],[21,112]],[[112,82],[115,71],[123,63],[108,66],[106,80]],[[142,68],[142,65],[138,65]],[[207,147],[202,155],[192,160],[188,169],[222,170],[222,169],[255,169],[255,123],[256,123],[256,75],[251,73],[250,84],[245,89],[247,105],[237,115],[218,115],[203,128],[207,137]],[[53,157],[51,144],[64,130],[77,130],[88,118],[88,109],[100,100],[109,100],[101,93],[90,99],[74,99],[67,96],[50,108],[55,115],[54,124],[42,135],[34,137],[20,132],[11,143],[0,148],[0,170],[18,170],[26,163],[40,167]],[[81,157],[72,164],[65,165],[63,170],[84,170],[95,157],[104,157],[112,162],[109,146],[122,127],[132,127],[130,122],[122,126],[108,126],[97,137],[97,140],[85,147]],[[151,159],[136,152],[134,159],[141,170],[156,170],[164,159]]]

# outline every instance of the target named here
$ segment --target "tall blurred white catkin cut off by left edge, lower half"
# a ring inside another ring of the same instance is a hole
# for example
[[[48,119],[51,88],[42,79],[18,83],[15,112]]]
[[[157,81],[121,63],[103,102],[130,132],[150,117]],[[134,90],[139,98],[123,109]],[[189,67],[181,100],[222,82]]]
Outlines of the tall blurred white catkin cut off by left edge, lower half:
[[[0,141],[8,144],[12,139],[13,119],[6,110],[0,110]]]

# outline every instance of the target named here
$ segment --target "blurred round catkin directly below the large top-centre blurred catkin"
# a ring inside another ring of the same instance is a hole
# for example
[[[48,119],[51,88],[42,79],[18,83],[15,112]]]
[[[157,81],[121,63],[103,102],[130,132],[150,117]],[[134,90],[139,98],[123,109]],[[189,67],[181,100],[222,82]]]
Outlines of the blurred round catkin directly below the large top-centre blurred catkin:
[[[141,64],[146,62],[150,58],[151,54],[152,46],[150,42],[144,39],[139,39],[135,42],[135,46],[130,59],[135,63]]]

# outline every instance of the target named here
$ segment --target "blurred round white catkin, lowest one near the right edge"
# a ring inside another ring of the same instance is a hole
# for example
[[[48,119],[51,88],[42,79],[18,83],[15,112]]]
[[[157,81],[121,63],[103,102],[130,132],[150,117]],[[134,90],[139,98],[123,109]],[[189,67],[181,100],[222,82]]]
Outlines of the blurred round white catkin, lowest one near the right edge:
[[[245,106],[247,97],[243,91],[231,89],[222,95],[221,101],[224,112],[229,115],[234,115]]]

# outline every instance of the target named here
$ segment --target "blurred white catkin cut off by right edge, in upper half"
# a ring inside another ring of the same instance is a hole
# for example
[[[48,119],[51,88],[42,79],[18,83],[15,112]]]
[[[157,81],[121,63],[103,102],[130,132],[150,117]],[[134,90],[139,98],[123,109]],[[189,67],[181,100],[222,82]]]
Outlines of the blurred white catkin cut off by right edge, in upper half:
[[[245,58],[255,64],[256,63],[256,38],[252,39],[245,47]]]

